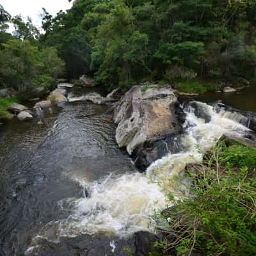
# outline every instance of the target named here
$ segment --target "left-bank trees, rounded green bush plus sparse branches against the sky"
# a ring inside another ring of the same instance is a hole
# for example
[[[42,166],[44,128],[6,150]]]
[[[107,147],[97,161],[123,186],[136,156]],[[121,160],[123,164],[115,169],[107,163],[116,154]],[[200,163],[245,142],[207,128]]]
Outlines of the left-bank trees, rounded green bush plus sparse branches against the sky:
[[[6,32],[12,22],[13,35]],[[0,6],[0,87],[12,87],[19,93],[33,87],[52,86],[65,71],[63,61],[53,47],[38,44],[38,29],[31,19],[11,17]]]

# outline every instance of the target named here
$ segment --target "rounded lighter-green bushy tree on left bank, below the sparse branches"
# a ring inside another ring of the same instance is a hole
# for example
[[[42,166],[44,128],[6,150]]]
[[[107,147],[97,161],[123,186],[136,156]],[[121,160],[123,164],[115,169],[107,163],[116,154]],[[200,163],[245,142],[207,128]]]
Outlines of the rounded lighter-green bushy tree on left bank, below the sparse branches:
[[[63,72],[63,63],[56,51],[42,51],[27,40],[9,40],[0,51],[0,83],[19,92],[33,86],[51,86],[53,79]]]

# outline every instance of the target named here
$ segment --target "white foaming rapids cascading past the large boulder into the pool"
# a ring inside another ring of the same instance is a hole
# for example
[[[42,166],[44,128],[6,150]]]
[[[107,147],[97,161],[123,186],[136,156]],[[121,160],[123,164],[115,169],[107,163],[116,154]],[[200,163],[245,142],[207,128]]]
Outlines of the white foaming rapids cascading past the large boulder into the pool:
[[[186,122],[182,144],[184,151],[167,154],[152,163],[146,173],[109,175],[90,183],[83,177],[71,177],[88,195],[70,198],[71,214],[65,220],[52,221],[38,234],[58,240],[60,236],[78,236],[107,232],[127,237],[141,230],[154,231],[152,216],[166,206],[165,189],[180,196],[173,177],[180,175],[189,163],[200,163],[204,152],[216,145],[223,134],[243,136],[248,132],[246,123],[239,116],[216,111],[213,106],[196,102],[204,109],[209,122],[196,116],[193,106],[186,109]],[[241,124],[240,124],[241,123]],[[67,204],[63,204],[67,205]],[[35,239],[36,245],[36,239]]]

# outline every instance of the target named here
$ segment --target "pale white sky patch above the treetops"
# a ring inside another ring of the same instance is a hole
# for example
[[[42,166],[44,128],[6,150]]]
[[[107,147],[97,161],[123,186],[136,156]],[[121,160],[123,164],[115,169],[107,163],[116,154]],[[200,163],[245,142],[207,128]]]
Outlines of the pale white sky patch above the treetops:
[[[64,11],[72,6],[68,0],[0,0],[0,4],[12,16],[21,14],[24,18],[31,17],[36,26],[41,26],[39,15],[43,7],[51,15],[55,15],[60,10]]]

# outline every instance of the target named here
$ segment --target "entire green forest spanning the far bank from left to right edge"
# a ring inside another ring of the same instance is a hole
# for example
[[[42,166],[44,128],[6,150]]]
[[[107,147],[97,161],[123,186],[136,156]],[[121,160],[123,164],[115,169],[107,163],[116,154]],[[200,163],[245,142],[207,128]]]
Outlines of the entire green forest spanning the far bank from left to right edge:
[[[247,0],[77,0],[55,17],[44,9],[39,31],[31,19],[10,17],[2,6],[0,83],[49,86],[56,77],[82,74],[109,90],[143,81],[199,87],[236,77],[250,81],[255,12],[255,1]]]

